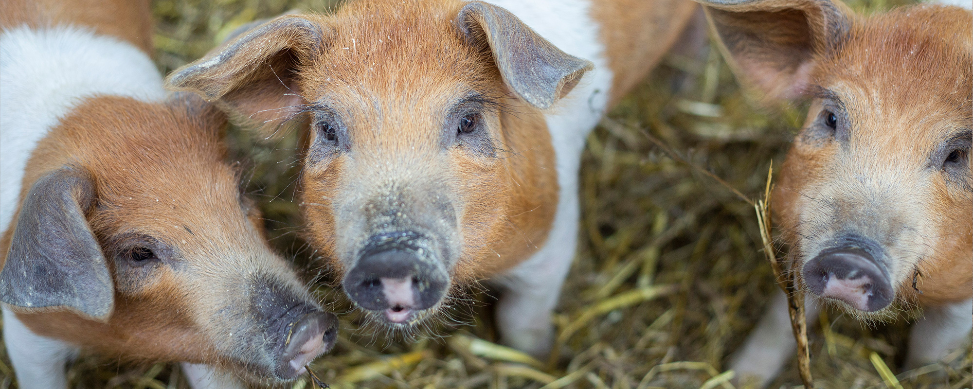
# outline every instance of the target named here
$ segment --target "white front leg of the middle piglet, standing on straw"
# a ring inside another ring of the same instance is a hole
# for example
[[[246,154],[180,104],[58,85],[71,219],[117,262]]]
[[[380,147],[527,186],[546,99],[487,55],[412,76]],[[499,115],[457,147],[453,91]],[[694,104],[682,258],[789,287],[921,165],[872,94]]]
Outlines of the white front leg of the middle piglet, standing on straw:
[[[551,351],[551,313],[558,304],[560,287],[577,246],[578,197],[564,195],[565,192],[562,191],[565,200],[558,204],[554,228],[544,247],[499,278],[506,287],[496,307],[501,339],[504,344],[537,357]]]

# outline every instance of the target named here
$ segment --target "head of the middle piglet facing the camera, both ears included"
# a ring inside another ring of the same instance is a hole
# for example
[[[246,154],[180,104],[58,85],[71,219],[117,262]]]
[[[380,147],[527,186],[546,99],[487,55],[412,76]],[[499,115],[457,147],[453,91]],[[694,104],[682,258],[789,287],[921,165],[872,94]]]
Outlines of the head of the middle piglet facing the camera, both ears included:
[[[524,238],[533,226],[511,214],[553,218],[540,110],[591,66],[486,3],[379,1],[276,18],[167,83],[270,130],[309,124],[310,238],[351,300],[405,329],[502,267],[511,256],[499,246],[546,237]]]

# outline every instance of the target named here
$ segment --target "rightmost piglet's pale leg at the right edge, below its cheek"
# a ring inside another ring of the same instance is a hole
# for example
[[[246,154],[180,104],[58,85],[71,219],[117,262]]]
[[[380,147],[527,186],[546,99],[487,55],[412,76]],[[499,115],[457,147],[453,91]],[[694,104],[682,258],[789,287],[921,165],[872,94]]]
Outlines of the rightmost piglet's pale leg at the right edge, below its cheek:
[[[966,343],[973,329],[973,300],[927,307],[909,335],[906,370],[935,363]]]

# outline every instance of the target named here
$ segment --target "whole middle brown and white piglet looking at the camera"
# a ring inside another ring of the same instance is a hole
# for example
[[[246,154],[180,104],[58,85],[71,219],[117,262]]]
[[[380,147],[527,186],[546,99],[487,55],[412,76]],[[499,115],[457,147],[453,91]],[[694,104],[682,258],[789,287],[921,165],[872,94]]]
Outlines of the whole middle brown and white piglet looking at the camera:
[[[502,340],[542,354],[574,257],[585,139],[695,9],[352,1],[271,20],[167,87],[270,131],[310,124],[307,236],[376,322],[408,332],[493,278]]]

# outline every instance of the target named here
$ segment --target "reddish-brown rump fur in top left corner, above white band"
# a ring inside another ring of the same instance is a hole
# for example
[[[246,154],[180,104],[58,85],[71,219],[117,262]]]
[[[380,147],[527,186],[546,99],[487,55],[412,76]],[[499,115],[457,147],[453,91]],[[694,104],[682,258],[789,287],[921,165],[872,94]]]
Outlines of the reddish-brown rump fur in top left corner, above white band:
[[[31,28],[70,24],[93,28],[100,35],[127,41],[154,53],[153,20],[149,0],[4,0],[0,28],[27,24]]]

